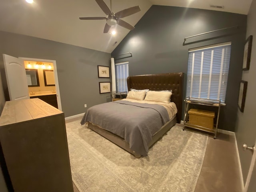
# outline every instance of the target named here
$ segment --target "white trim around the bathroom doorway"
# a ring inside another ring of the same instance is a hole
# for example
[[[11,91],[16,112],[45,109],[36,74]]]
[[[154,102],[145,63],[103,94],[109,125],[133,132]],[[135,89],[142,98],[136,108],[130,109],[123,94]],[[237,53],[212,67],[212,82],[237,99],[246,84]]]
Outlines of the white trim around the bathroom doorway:
[[[24,61],[24,60],[29,60],[29,61],[38,61],[38,62],[49,62],[49,63],[53,63],[53,68],[54,68],[53,72],[54,72],[54,79],[55,79],[55,88],[56,88],[58,109],[62,111],[61,100],[60,100],[60,88],[59,88],[59,81],[58,81],[56,60],[38,59],[38,58],[27,58],[27,57],[19,57],[19,58],[23,59],[23,61]]]

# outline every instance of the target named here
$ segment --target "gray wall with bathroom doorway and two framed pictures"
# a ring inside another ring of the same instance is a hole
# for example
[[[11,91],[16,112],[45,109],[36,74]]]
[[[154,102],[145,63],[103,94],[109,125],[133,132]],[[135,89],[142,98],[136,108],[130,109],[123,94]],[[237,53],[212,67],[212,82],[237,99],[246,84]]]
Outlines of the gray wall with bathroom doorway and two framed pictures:
[[[90,106],[110,101],[110,94],[99,93],[99,82],[109,82],[110,79],[98,78],[97,68],[97,65],[110,65],[109,53],[3,31],[0,31],[0,42],[1,74],[4,72],[2,54],[56,60],[65,117],[84,113]],[[5,83],[4,91],[8,92]]]

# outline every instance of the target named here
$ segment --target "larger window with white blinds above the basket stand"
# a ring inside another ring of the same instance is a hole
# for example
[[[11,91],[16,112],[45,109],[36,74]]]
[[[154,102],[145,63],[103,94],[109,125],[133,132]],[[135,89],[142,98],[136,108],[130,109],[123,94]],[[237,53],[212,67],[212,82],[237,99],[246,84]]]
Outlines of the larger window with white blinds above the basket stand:
[[[225,102],[231,42],[190,49],[187,97]]]

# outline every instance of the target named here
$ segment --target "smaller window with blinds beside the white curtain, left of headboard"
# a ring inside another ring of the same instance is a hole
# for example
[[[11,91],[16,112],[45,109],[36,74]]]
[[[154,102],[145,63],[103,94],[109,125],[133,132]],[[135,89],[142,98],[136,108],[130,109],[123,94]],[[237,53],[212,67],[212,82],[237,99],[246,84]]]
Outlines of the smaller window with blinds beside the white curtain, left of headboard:
[[[116,63],[116,91],[127,92],[127,77],[129,76],[129,62]]]

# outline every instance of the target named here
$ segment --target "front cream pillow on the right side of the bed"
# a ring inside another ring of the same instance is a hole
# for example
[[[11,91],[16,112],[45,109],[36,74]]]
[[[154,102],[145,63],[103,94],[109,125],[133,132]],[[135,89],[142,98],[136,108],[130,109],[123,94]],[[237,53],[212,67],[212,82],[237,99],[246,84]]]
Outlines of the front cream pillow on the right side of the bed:
[[[145,97],[145,101],[169,103],[172,92],[149,91]]]

